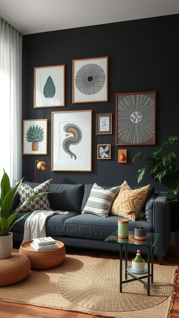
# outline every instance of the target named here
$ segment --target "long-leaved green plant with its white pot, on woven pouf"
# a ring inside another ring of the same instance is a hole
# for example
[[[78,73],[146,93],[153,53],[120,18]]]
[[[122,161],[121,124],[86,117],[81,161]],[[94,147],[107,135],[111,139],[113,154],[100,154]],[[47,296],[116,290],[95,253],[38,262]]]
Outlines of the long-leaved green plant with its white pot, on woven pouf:
[[[12,227],[20,221],[25,215],[31,213],[26,213],[22,217],[18,218],[14,221],[18,212],[20,212],[21,208],[25,206],[27,203],[31,202],[36,197],[45,194],[47,192],[35,194],[34,196],[28,198],[14,213],[9,213],[12,208],[12,203],[17,193],[20,185],[22,183],[21,179],[14,189],[11,189],[9,177],[6,172],[1,180],[1,197],[0,197],[0,259],[5,259],[11,256],[12,253],[12,233],[10,232]]]

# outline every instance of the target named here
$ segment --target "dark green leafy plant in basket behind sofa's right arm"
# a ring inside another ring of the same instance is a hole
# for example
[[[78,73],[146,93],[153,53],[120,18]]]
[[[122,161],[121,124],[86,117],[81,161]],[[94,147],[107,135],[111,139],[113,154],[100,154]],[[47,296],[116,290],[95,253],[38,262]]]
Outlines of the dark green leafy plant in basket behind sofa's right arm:
[[[168,202],[172,204],[179,204],[179,143],[178,137],[171,136],[168,141],[162,142],[160,147],[151,149],[149,153],[139,152],[133,161],[140,157],[142,160],[143,154],[147,155],[147,166],[138,170],[138,183],[142,180],[143,176],[148,173],[154,174],[154,180],[157,182],[168,177],[170,188],[166,196]],[[175,232],[175,255],[179,257],[179,231]]]

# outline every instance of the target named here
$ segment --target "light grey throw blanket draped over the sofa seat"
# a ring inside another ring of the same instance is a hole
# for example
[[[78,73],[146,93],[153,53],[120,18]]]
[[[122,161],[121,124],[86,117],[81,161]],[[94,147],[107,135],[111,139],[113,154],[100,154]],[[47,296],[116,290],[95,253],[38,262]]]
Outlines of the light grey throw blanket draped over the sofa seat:
[[[31,239],[46,237],[45,224],[49,216],[53,214],[70,214],[62,211],[36,210],[25,220],[24,239],[22,243]]]

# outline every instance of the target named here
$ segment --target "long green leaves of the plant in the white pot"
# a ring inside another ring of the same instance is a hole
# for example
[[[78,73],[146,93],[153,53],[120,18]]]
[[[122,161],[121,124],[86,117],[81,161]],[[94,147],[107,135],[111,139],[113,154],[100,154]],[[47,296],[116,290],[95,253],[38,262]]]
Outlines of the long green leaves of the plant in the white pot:
[[[9,177],[8,177],[7,173],[4,172],[4,175],[2,177],[2,180],[1,180],[1,197],[0,197],[0,236],[9,235],[9,232],[11,231],[12,227],[18,221],[20,221],[22,218],[24,218],[25,215],[31,213],[31,212],[26,213],[25,215],[23,215],[22,217],[18,218],[16,221],[14,221],[14,219],[16,218],[18,212],[20,212],[20,210],[22,209],[23,206],[25,206],[27,203],[31,202],[36,197],[47,193],[47,192],[38,193],[38,194],[35,194],[32,197],[29,197],[18,208],[18,210],[16,210],[16,212],[10,213],[14,197],[15,197],[16,193],[18,192],[18,189],[21,186],[22,180],[23,179],[21,179],[18,182],[18,184],[16,185],[16,187],[14,189],[11,189],[10,180],[9,180]]]

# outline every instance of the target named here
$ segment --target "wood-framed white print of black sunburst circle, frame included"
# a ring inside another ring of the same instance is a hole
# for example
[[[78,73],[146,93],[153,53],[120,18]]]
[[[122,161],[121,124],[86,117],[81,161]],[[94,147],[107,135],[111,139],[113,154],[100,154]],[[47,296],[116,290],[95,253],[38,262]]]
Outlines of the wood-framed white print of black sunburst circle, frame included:
[[[72,103],[108,100],[108,57],[73,60]]]

